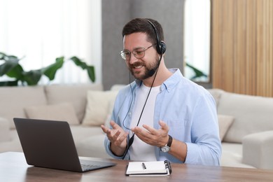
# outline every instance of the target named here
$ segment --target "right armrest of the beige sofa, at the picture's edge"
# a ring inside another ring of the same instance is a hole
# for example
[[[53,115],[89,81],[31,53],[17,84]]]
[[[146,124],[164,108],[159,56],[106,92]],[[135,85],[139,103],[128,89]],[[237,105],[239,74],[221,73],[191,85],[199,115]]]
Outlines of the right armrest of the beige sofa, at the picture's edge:
[[[273,169],[273,130],[243,138],[243,163],[259,169]]]

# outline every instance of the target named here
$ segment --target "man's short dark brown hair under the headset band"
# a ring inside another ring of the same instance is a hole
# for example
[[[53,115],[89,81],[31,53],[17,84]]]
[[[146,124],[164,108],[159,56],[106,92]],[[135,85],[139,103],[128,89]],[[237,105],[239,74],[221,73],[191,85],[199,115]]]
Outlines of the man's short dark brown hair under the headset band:
[[[147,41],[153,44],[158,43],[158,40],[155,34],[155,29],[153,28],[153,25],[151,25],[148,22],[148,20],[151,21],[153,25],[155,25],[155,28],[158,31],[159,41],[164,41],[164,32],[163,32],[162,26],[156,20],[153,20],[150,18],[135,18],[131,20],[130,22],[127,22],[127,24],[123,27],[123,38],[126,35],[142,32],[148,35]]]

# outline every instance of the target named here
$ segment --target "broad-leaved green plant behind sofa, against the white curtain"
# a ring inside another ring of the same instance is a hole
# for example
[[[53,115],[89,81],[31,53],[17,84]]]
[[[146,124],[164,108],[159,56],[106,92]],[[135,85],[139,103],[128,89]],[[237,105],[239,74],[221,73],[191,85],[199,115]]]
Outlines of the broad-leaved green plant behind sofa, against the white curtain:
[[[76,66],[86,69],[90,80],[94,82],[94,66],[87,65],[76,56],[70,57],[68,60],[71,60]],[[22,85],[37,85],[42,76],[48,77],[49,80],[54,80],[56,72],[62,68],[65,61],[64,57],[57,57],[53,64],[41,69],[25,71],[20,65],[18,57],[0,52],[0,62],[3,62],[3,64],[0,64],[0,76],[6,75],[14,79],[1,81],[0,86],[16,86],[19,83],[22,83]]]

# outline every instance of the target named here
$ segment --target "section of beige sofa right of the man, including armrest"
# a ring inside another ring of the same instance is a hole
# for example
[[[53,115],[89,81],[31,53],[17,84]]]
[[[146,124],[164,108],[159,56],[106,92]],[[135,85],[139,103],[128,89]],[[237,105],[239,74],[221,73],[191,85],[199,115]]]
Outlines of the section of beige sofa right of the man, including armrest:
[[[273,169],[273,98],[209,92],[223,138],[221,165]]]

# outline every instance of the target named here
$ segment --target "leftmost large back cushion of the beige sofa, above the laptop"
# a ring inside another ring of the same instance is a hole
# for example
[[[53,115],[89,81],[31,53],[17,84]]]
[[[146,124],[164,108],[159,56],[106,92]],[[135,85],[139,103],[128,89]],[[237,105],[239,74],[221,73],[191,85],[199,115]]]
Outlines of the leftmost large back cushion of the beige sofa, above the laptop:
[[[0,93],[0,116],[8,119],[13,129],[13,118],[26,118],[25,107],[47,103],[42,86],[0,87]]]

